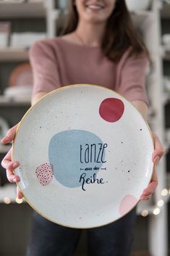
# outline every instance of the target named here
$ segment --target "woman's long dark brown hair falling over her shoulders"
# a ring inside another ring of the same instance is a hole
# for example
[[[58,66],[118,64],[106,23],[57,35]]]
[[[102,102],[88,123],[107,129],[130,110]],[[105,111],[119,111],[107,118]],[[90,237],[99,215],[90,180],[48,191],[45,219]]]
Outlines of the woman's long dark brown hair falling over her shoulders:
[[[69,0],[69,15],[62,34],[71,33],[77,28],[79,17],[74,3],[75,0]],[[145,44],[133,27],[125,0],[116,0],[114,10],[106,22],[101,49],[106,57],[118,62],[129,47],[131,55],[146,54],[149,58]]]

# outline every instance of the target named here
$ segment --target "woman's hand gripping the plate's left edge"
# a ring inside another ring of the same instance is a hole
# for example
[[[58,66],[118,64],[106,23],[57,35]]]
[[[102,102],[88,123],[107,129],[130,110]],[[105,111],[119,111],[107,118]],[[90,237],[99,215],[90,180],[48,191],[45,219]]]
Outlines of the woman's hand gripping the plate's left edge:
[[[7,132],[7,135],[1,139],[2,144],[9,144],[12,143],[14,139],[15,132],[17,130],[17,125],[14,125],[9,131]],[[14,169],[20,166],[20,162],[14,162],[12,161],[12,149],[9,150],[9,152],[6,154],[4,159],[1,161],[1,166],[6,169],[7,172],[7,179],[11,183],[16,183],[20,181],[20,177],[14,175]],[[17,198],[22,199],[23,195],[20,191],[20,189],[17,187]]]

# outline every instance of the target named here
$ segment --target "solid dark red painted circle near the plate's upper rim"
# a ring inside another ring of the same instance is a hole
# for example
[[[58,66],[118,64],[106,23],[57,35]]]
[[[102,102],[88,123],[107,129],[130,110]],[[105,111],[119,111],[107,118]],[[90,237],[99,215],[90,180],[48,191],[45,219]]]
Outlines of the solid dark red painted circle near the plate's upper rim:
[[[108,98],[101,102],[99,114],[107,122],[114,123],[119,120],[124,113],[124,103],[120,99]]]

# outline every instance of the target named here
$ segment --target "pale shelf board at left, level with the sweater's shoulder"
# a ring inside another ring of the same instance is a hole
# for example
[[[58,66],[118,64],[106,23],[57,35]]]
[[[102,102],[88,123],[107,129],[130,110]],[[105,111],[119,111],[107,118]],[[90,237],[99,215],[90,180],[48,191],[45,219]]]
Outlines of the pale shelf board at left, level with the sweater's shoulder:
[[[27,49],[13,47],[0,48],[1,62],[28,61],[28,59]]]

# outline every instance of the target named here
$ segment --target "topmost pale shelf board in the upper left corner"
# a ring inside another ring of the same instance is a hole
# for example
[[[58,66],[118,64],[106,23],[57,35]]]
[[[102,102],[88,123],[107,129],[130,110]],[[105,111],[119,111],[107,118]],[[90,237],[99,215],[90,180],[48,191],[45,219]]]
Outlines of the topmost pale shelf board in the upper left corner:
[[[43,1],[0,1],[0,17],[46,17],[46,8]]]

